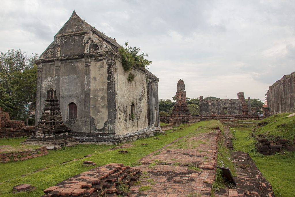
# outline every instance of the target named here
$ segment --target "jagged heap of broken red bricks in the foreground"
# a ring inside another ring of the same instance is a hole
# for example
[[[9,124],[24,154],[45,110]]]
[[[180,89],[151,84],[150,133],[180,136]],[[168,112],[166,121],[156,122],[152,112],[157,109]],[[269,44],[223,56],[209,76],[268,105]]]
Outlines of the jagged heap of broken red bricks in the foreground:
[[[129,188],[138,180],[140,170],[110,163],[96,167],[44,190],[42,197],[58,196],[130,196]],[[127,187],[128,191],[122,189]]]

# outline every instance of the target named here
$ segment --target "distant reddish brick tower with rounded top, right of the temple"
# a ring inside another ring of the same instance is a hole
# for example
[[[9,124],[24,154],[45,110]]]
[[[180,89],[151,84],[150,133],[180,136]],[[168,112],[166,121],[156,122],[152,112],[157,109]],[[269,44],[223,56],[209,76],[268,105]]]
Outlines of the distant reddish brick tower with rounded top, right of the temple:
[[[189,113],[189,109],[187,108],[186,92],[184,90],[184,82],[183,80],[179,79],[177,83],[177,92],[175,95],[176,104],[174,105],[174,108],[172,110],[171,117],[179,118],[179,121],[181,123],[189,122],[189,117],[191,116],[191,114]]]

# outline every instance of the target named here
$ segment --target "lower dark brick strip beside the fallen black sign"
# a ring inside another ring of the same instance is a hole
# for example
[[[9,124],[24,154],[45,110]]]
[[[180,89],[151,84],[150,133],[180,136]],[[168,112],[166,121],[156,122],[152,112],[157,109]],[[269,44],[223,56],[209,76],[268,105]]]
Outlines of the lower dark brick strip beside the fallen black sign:
[[[219,191],[215,192],[216,197],[275,196],[272,192],[271,184],[262,176],[249,154],[232,152],[232,162],[237,173],[237,177],[234,177],[237,185],[231,189],[219,189]]]

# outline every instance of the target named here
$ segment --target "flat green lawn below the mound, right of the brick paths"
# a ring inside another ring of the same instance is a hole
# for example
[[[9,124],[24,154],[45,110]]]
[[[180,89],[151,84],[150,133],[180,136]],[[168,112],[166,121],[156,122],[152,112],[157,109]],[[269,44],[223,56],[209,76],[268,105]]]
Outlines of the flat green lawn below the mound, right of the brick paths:
[[[252,128],[240,127],[230,129],[236,138],[233,140],[234,150],[246,152],[251,156],[260,172],[271,183],[276,196],[294,196],[295,152],[262,156],[255,152],[255,139],[250,136]],[[233,130],[236,131],[233,132]]]

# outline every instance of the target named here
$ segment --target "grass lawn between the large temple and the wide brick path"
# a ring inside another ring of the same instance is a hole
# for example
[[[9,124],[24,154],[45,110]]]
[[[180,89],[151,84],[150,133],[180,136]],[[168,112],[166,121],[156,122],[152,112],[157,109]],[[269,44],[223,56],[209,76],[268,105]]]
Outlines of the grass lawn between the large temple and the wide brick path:
[[[118,153],[118,150],[120,149],[108,150],[115,147],[115,145],[79,144],[73,147],[62,148],[57,151],[49,151],[49,154],[42,157],[0,164],[0,196],[41,196],[44,194],[44,189],[53,186],[66,178],[93,168],[84,167],[82,165],[84,160],[93,161],[97,166],[112,162],[130,165],[141,157],[171,143],[175,139],[194,132],[199,126],[210,125],[212,123],[216,124],[216,121],[201,121],[199,123],[191,124],[191,126],[181,125],[183,130],[176,130],[171,133],[166,131],[167,135],[157,135],[159,139],[154,139],[153,137],[138,139],[132,142],[133,147],[125,149],[129,152],[127,154]],[[15,141],[15,144],[17,144],[19,141],[24,141],[25,138],[3,139],[3,141],[1,140],[0,142],[4,143],[5,140]],[[141,145],[142,143],[148,145]],[[81,158],[87,154],[92,154],[92,156],[63,164],[63,162],[75,158]],[[43,168],[45,169],[40,170]],[[36,170],[40,171],[34,172]],[[36,187],[36,190],[27,193],[21,192],[13,194],[12,187],[21,183],[33,185]]]

